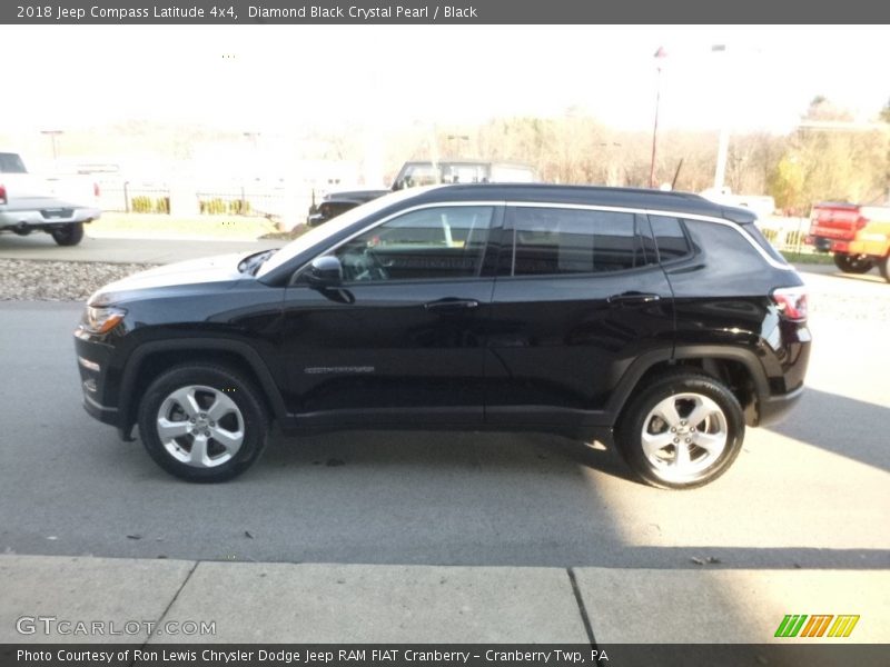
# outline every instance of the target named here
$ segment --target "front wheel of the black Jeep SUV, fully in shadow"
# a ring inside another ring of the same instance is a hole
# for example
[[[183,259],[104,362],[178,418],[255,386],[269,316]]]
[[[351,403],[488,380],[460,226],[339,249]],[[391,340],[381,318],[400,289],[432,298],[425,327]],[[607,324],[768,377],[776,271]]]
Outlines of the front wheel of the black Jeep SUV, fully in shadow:
[[[172,397],[177,391],[194,398],[196,404],[184,409],[185,401]],[[218,417],[219,424],[211,420],[215,406],[220,411],[227,410]],[[190,432],[162,438],[161,411],[171,429]],[[207,430],[198,432],[198,429]],[[269,418],[260,394],[241,375],[221,366],[195,364],[172,368],[151,382],[139,405],[139,436],[148,454],[169,474],[188,481],[214,482],[237,477],[263,452],[268,430]],[[238,434],[241,439],[237,448],[227,448],[225,442],[231,444]],[[197,438],[205,442],[206,455],[201,457],[205,462],[184,462],[194,460],[192,452],[197,456],[202,451],[195,449]]]

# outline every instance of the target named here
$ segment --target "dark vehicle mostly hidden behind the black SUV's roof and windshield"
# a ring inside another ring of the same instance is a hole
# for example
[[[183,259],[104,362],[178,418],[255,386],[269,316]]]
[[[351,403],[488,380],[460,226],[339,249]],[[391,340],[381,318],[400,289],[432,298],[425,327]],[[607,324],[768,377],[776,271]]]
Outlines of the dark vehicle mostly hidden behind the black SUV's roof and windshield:
[[[441,183],[531,183],[537,181],[534,168],[527,165],[484,160],[409,161],[398,170],[389,190],[346,190],[325,195],[313,203],[306,223],[316,227],[377,197],[405,188]]]

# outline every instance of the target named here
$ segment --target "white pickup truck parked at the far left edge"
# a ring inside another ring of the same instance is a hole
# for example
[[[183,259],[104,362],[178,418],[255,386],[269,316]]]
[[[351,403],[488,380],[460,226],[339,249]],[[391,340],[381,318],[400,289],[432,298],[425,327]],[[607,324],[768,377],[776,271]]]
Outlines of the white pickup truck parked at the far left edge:
[[[83,179],[39,178],[28,173],[18,153],[0,152],[0,231],[46,231],[59,246],[77,246],[83,225],[101,216],[98,196]]]

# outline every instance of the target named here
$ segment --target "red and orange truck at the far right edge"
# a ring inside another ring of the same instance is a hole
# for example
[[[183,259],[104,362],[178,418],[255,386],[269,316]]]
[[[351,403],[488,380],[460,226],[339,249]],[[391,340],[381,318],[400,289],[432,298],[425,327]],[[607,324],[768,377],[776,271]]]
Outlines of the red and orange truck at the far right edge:
[[[831,252],[846,273],[864,273],[877,266],[890,282],[890,206],[818,203],[810,216],[808,242]]]

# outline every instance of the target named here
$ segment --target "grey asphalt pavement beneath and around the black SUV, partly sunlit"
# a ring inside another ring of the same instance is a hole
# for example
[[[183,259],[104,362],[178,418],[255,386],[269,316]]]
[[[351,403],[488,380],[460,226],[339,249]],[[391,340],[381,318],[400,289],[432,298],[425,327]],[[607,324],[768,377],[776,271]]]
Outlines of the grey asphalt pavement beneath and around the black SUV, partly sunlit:
[[[230,561],[631,568],[890,566],[890,286],[807,273],[814,351],[789,420],[666,492],[551,436],[277,437],[244,477],[177,481],[89,418],[78,303],[0,303],[0,551]]]

